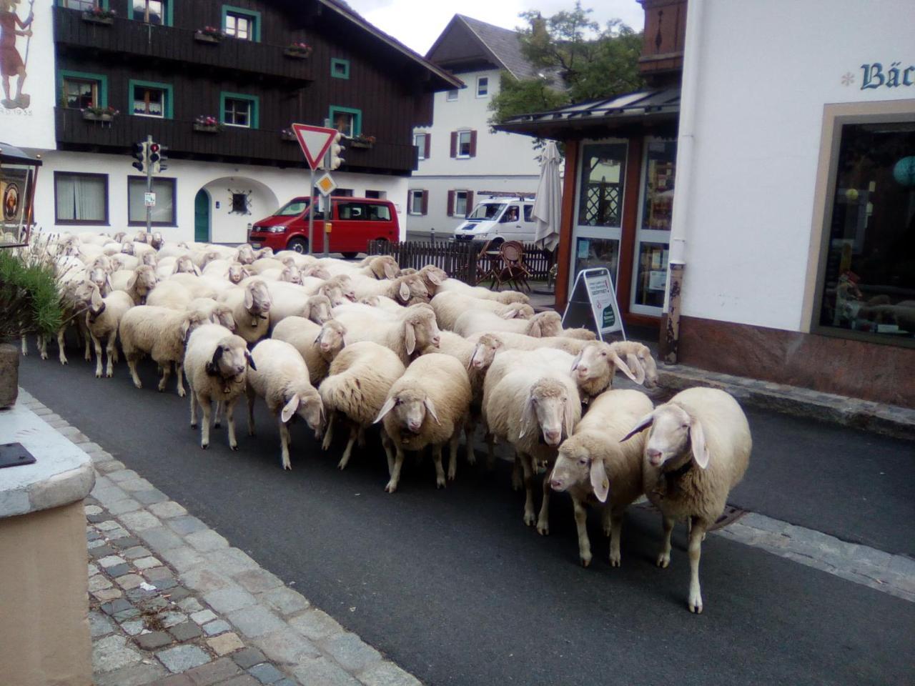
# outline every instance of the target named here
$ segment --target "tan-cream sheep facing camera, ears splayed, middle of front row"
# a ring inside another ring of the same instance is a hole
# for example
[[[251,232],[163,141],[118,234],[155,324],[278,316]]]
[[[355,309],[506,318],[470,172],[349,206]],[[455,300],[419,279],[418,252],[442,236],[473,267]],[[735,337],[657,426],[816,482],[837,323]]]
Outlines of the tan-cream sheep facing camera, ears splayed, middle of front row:
[[[442,446],[449,443],[448,478],[458,468],[458,435],[470,411],[470,381],[457,359],[433,353],[411,362],[388,391],[375,422],[384,423],[382,445],[388,457],[390,480],[384,488],[397,490],[404,451],[421,451],[432,446],[436,465],[436,487],[445,488]]]

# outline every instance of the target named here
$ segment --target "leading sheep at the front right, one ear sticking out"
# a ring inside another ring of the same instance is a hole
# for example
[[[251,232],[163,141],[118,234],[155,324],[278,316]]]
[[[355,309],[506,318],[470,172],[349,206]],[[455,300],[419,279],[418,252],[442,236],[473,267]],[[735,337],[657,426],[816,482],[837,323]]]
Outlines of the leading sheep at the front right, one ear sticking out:
[[[747,416],[725,391],[691,388],[642,417],[622,440],[647,427],[651,429],[645,439],[642,485],[662,514],[664,542],[658,566],[671,562],[673,522],[688,518],[688,606],[698,614],[702,540],[725,511],[727,494],[747,471],[753,448]]]

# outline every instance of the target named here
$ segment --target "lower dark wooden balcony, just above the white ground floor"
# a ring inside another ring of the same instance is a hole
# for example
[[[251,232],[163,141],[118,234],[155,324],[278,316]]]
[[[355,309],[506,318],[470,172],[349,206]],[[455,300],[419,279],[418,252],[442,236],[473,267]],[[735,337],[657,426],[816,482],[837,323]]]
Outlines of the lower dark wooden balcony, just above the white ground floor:
[[[80,110],[57,108],[55,125],[62,150],[130,155],[147,135],[168,146],[175,159],[206,159],[254,165],[304,166],[305,155],[280,132],[225,126],[218,133],[194,131],[194,123],[176,119],[119,114],[111,122],[83,119]],[[416,168],[414,145],[375,142],[371,148],[349,148],[341,171],[405,175]]]

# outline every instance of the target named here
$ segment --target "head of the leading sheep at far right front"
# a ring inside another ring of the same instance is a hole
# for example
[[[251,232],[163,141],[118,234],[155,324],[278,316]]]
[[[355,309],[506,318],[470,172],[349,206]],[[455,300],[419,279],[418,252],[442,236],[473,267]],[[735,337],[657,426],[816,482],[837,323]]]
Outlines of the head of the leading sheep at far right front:
[[[703,469],[708,466],[708,445],[705,444],[702,423],[681,405],[675,402],[658,405],[642,417],[620,443],[648,427],[651,430],[645,440],[645,459],[651,466],[661,467],[667,462],[682,462],[680,458],[690,454],[695,464]]]

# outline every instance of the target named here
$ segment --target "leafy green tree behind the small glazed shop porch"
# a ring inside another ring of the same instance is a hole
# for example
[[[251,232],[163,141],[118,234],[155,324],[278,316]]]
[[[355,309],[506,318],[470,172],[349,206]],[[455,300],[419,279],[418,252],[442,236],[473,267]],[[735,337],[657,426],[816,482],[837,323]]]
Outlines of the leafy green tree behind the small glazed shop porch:
[[[502,123],[519,114],[554,110],[570,102],[610,98],[637,91],[644,83],[638,62],[641,34],[619,19],[601,28],[576,0],[571,11],[544,17],[539,11],[522,12],[519,27],[522,53],[540,75],[515,79],[502,72],[500,92],[490,102],[490,123]]]

